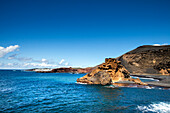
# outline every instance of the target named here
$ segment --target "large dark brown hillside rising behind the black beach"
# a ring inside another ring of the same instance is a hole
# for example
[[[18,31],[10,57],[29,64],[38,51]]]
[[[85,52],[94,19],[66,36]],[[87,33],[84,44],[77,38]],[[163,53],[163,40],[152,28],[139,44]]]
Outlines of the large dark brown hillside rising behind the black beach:
[[[118,57],[130,74],[170,75],[170,45],[140,46]]]

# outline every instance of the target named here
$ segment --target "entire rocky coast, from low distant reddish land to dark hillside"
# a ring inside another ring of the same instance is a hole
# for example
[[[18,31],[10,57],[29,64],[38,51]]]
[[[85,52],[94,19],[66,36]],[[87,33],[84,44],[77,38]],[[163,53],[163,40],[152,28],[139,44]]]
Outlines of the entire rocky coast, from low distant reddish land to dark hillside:
[[[37,73],[87,73],[77,82],[101,85],[143,85],[170,88],[170,45],[140,46],[118,58],[106,58],[105,62],[95,67],[56,69],[31,69]],[[159,81],[142,82],[139,78],[153,78]],[[140,86],[139,86],[140,87]]]

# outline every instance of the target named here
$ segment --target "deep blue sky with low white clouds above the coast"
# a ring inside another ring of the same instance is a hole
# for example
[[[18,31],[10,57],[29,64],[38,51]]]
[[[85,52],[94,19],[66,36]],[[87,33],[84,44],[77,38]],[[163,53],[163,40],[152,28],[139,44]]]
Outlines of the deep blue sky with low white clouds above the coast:
[[[0,69],[90,67],[170,44],[169,0],[0,0]]]

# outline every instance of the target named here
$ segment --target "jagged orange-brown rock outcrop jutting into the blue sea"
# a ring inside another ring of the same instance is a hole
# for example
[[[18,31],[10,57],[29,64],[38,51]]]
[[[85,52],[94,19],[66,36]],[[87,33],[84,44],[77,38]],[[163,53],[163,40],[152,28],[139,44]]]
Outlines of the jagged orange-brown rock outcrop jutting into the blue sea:
[[[114,58],[106,58],[105,63],[97,66],[91,73],[78,78],[77,82],[87,84],[114,84],[119,81],[131,81],[140,85],[146,85],[140,79],[132,79],[129,72]]]

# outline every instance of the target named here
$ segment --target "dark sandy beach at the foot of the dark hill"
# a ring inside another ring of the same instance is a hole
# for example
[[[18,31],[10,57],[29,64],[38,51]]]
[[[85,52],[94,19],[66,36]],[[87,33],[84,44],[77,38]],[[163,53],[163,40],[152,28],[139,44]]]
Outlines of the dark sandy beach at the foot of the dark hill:
[[[159,81],[145,82],[149,86],[158,86],[164,88],[170,88],[170,76],[169,75],[131,75],[134,77],[142,77],[142,78],[153,78]]]

